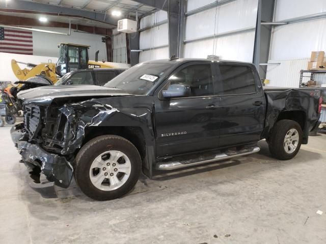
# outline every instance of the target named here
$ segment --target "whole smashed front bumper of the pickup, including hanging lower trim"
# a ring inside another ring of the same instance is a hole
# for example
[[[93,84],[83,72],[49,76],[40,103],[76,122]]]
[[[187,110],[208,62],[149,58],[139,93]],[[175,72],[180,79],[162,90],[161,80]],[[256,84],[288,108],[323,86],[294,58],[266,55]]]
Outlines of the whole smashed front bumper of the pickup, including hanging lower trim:
[[[71,164],[65,157],[48,153],[41,146],[28,142],[22,128],[21,124],[14,126],[11,137],[33,180],[30,186],[44,197],[55,193],[54,185],[68,188],[73,173]],[[45,182],[43,175],[47,179]]]

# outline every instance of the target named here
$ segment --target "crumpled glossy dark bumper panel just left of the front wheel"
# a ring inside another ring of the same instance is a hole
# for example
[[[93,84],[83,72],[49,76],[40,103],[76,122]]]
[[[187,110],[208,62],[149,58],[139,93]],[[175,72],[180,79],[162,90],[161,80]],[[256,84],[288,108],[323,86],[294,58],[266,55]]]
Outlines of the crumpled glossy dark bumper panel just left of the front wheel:
[[[73,169],[65,157],[47,153],[27,141],[18,141],[18,151],[25,162],[40,167],[47,180],[54,181],[59,187],[69,187]]]

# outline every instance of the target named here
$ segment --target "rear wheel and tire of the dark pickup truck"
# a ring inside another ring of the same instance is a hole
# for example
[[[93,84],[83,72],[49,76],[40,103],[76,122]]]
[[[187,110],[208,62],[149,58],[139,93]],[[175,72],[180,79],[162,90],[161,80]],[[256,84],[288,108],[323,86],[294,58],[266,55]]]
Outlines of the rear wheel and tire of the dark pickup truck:
[[[268,138],[271,155],[279,160],[289,160],[300,150],[301,126],[293,120],[282,119],[276,123]]]

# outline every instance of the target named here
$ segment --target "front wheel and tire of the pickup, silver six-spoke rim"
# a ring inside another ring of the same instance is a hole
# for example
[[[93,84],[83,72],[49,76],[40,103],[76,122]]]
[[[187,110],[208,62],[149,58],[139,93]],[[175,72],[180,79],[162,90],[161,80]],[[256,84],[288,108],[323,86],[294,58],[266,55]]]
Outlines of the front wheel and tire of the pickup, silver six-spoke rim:
[[[130,192],[141,169],[141,156],[130,141],[120,136],[105,135],[90,140],[79,150],[74,178],[85,195],[105,201]]]

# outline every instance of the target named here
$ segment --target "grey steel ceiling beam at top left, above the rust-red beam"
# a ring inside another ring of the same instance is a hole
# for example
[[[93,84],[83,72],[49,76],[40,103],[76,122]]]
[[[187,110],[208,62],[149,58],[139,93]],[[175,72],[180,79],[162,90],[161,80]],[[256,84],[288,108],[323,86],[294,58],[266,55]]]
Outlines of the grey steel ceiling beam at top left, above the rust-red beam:
[[[92,19],[95,21],[104,22],[111,25],[117,25],[117,20],[112,18],[110,15],[105,15],[105,13],[99,13],[95,11],[87,11],[75,8],[68,8],[58,5],[42,4],[35,2],[26,2],[21,0],[10,1],[10,2],[0,2],[0,8],[8,10],[21,10],[21,12],[40,12],[43,14],[56,14],[56,15],[70,15],[76,17],[84,17],[87,19]]]

